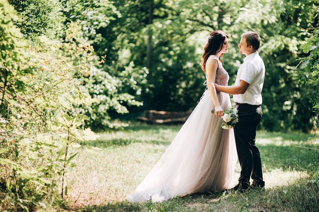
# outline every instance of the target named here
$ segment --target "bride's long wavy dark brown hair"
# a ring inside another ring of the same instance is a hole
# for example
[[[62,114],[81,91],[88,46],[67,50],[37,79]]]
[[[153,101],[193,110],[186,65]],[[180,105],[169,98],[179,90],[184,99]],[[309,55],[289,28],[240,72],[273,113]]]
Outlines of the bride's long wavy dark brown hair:
[[[204,53],[202,56],[202,61],[200,65],[202,66],[202,70],[206,73],[206,61],[208,57],[212,54],[216,54],[222,50],[222,45],[225,39],[228,38],[228,35],[221,30],[213,31],[209,34],[208,41],[204,46]],[[223,56],[223,54],[221,54]]]

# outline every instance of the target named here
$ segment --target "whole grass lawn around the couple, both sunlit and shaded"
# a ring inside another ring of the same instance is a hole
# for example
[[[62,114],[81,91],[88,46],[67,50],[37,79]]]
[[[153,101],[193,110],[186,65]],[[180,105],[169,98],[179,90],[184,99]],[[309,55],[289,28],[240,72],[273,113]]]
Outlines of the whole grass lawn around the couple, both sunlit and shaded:
[[[82,143],[84,148],[74,160],[77,166],[66,175],[67,211],[319,211],[319,152],[304,148],[318,149],[318,137],[300,132],[257,132],[265,190],[128,203],[126,195],[139,185],[180,127],[135,123]],[[239,171],[237,163],[231,186],[236,185]]]

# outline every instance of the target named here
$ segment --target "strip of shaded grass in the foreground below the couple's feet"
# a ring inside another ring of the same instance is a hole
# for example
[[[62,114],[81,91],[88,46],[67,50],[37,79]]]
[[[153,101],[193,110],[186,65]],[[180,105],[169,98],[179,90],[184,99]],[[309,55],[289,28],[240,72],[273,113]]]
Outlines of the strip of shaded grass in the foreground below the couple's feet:
[[[75,211],[291,211],[317,212],[319,192],[317,184],[297,179],[293,185],[244,193],[205,193],[175,197],[168,201],[129,203],[127,201],[87,206]],[[74,209],[73,209],[74,211]]]

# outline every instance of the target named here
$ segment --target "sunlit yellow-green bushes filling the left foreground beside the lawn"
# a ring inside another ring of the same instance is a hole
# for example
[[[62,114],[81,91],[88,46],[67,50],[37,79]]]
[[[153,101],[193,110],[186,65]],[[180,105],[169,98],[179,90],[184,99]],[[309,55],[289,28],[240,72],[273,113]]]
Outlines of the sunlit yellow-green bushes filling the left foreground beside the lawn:
[[[25,36],[38,40],[31,46],[16,26],[23,15],[4,0],[0,12],[2,209],[33,211],[61,203],[78,142],[96,138],[83,127],[85,108],[95,102],[85,82],[96,60],[76,24],[62,41]]]

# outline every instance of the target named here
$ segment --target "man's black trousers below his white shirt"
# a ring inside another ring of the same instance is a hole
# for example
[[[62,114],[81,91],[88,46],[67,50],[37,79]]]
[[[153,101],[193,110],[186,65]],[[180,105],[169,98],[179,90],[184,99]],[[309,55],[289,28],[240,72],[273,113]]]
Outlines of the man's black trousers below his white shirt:
[[[256,141],[256,130],[260,123],[262,110],[259,105],[236,104],[238,122],[234,127],[238,160],[241,164],[240,183],[249,184],[250,177],[255,184],[264,184],[261,159]]]

